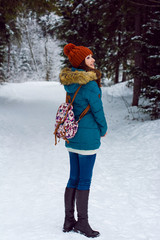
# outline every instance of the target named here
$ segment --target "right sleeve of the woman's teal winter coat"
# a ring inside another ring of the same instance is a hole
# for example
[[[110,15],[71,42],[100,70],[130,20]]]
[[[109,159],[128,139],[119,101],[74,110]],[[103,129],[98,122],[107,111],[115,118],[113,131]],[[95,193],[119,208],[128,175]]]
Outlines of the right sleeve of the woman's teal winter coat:
[[[95,81],[89,82],[86,87],[86,98],[91,107],[91,112],[99,127],[100,135],[104,136],[107,132],[107,121],[103,110],[102,100],[101,97],[99,97],[101,91]]]

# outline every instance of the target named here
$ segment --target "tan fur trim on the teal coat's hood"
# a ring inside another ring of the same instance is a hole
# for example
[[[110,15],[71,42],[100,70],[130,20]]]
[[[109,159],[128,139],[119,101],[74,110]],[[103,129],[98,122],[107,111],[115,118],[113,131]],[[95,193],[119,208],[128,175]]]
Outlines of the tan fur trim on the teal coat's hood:
[[[76,84],[87,84],[90,81],[97,80],[97,76],[95,72],[86,72],[86,71],[78,71],[70,68],[64,68],[60,72],[59,75],[60,82],[63,85],[70,85],[73,83]]]

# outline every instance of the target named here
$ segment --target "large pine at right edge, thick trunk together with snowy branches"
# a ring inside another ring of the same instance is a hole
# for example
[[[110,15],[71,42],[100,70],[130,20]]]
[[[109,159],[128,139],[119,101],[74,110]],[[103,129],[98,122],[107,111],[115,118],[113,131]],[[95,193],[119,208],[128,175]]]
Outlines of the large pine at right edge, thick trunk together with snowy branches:
[[[138,106],[140,97],[147,104],[140,104],[151,114],[151,118],[160,117],[160,4],[158,1],[132,1],[135,14],[134,56],[132,69],[134,77],[133,106]]]

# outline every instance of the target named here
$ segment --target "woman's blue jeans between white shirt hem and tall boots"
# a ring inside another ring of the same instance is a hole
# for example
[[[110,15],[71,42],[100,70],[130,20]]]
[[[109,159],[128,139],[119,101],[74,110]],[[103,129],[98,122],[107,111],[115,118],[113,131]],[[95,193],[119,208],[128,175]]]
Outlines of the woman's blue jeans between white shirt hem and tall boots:
[[[69,152],[69,156],[70,177],[67,187],[76,188],[78,190],[89,190],[96,154],[81,155]]]

